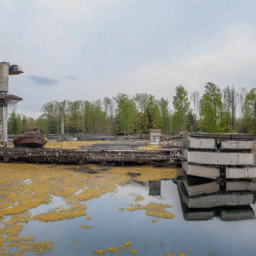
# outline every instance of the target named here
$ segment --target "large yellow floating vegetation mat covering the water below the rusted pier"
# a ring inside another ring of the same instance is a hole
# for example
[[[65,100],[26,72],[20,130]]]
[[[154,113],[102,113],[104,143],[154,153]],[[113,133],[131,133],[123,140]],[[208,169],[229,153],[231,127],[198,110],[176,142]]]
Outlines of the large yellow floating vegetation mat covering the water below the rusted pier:
[[[128,170],[138,175],[135,177],[128,176],[126,175]],[[34,250],[35,253],[44,253],[43,250],[46,248],[42,247],[39,251],[40,246],[32,239],[24,238],[25,241],[21,238],[15,238],[23,229],[24,223],[31,219],[29,209],[42,204],[49,204],[52,196],[60,196],[69,204],[69,208],[59,206],[51,211],[35,215],[32,219],[47,222],[85,216],[87,207],[81,204],[80,201],[98,198],[106,193],[116,193],[118,187],[125,185],[130,179],[147,181],[173,178],[177,177],[177,171],[169,167],[155,168],[152,165],[106,169],[99,168],[96,165],[56,166],[0,163],[0,175],[0,246],[3,246],[7,241],[16,243],[16,245],[21,243],[22,246],[19,247],[25,248],[24,251]],[[29,180],[29,182],[24,183],[24,180]],[[75,194],[77,191],[81,191],[81,193]],[[142,196],[138,198],[137,202],[141,201],[139,199],[142,198]],[[131,208],[134,208],[133,210],[145,209],[147,215],[155,217],[159,215],[161,218],[170,218],[170,215],[172,215],[164,210],[164,208],[170,207],[169,205],[159,206],[157,204],[156,207],[156,205],[150,204],[147,206],[136,204],[132,205]],[[120,208],[120,210],[124,210],[124,208]],[[7,218],[7,215],[10,218]],[[86,217],[86,219],[89,218]],[[84,228],[90,227],[81,226]],[[7,235],[6,238],[4,234]],[[51,245],[48,244],[49,246]]]

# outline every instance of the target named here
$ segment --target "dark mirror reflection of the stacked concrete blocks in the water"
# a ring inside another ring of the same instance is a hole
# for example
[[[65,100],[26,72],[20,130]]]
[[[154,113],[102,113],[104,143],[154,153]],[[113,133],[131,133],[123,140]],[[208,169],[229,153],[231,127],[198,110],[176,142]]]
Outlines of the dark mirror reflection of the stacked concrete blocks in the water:
[[[201,178],[177,178],[180,204],[186,220],[255,219],[255,180],[208,181]]]

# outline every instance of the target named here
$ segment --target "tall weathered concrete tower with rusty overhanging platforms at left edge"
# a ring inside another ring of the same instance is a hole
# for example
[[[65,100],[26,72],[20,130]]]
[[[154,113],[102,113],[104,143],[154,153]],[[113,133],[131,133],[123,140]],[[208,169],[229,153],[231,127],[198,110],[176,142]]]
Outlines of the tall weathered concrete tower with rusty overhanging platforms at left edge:
[[[9,75],[23,73],[18,65],[11,65],[9,62],[0,62],[0,147],[7,146],[7,105],[9,101],[21,101],[20,97],[8,94]]]

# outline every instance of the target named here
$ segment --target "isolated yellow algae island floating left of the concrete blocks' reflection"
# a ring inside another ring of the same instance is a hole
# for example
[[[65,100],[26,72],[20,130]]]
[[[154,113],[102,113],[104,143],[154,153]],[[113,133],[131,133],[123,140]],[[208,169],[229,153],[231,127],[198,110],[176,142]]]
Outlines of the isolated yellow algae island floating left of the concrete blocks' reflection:
[[[165,210],[165,208],[170,208],[170,207],[172,207],[172,206],[168,205],[168,204],[150,202],[149,204],[147,204],[145,206],[136,206],[135,205],[134,207],[126,208],[126,209],[129,211],[146,210],[146,215],[148,215],[148,216],[172,219],[175,217],[175,214]]]

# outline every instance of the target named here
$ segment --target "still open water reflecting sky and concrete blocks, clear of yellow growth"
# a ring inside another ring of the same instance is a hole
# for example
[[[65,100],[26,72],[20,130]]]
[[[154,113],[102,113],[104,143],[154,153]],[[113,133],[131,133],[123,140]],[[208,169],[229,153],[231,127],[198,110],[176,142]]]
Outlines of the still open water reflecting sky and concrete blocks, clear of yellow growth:
[[[118,247],[126,241],[132,242],[130,249],[135,249],[137,255],[159,256],[167,251],[177,255],[183,251],[191,256],[209,255],[209,252],[223,256],[256,255],[255,190],[255,181],[209,182],[187,177],[129,181],[119,187],[118,193],[86,201],[87,216],[92,219],[82,216],[53,222],[30,220],[19,236],[54,241],[55,248],[47,255],[98,255],[92,251]],[[172,205],[166,210],[175,217],[152,223],[157,218],[147,216],[145,210],[119,210],[135,203],[131,193],[145,198],[140,202],[142,205],[152,201]],[[223,202],[233,206],[222,207]],[[237,206],[239,204],[247,206]],[[61,197],[54,196],[50,204],[36,207],[31,213],[34,216],[60,205],[69,207]],[[94,228],[83,229],[79,225]],[[127,249],[120,252],[131,255]],[[106,252],[104,255],[117,254],[119,252]],[[34,255],[34,252],[25,255]]]

